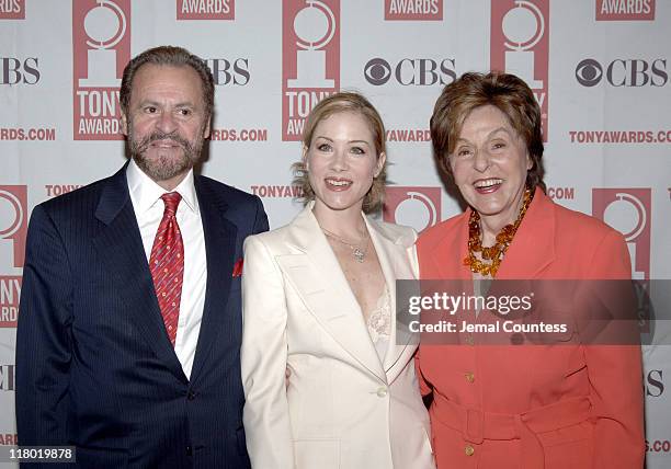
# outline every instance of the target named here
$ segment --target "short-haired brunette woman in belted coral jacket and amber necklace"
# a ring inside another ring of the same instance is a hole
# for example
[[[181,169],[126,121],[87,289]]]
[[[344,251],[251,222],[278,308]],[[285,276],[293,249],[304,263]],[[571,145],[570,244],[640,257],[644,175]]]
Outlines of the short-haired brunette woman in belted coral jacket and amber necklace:
[[[420,237],[421,278],[630,277],[618,232],[546,196],[541,110],[522,80],[464,75],[440,95],[431,136],[468,208]],[[642,467],[640,347],[458,340],[419,350],[439,468]]]

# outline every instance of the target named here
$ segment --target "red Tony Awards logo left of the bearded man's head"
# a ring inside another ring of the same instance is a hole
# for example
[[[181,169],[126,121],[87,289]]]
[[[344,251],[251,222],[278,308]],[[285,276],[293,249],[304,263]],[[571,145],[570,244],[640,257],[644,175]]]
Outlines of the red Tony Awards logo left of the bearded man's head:
[[[122,139],[118,87],[130,59],[130,0],[75,0],[72,55],[75,139]]]

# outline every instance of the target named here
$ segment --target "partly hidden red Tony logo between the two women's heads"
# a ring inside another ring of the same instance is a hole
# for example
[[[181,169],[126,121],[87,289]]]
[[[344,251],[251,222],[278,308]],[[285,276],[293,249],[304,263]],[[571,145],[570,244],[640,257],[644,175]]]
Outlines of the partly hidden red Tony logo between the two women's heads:
[[[383,219],[422,232],[441,221],[441,188],[388,186]]]

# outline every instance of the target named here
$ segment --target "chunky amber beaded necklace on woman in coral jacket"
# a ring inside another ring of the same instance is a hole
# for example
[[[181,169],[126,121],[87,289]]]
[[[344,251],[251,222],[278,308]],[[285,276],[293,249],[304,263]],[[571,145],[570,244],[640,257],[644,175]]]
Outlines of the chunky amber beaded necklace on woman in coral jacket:
[[[470,213],[470,218],[468,219],[468,255],[464,258],[464,265],[470,267],[470,272],[474,274],[491,275],[492,277],[497,276],[503,255],[518,232],[518,228],[520,228],[520,224],[533,198],[534,195],[531,190],[524,191],[524,202],[522,207],[520,207],[518,219],[514,224],[509,224],[501,228],[501,231],[497,234],[497,242],[491,248],[482,248],[480,214],[477,210]],[[476,252],[481,252],[482,261],[476,258]]]

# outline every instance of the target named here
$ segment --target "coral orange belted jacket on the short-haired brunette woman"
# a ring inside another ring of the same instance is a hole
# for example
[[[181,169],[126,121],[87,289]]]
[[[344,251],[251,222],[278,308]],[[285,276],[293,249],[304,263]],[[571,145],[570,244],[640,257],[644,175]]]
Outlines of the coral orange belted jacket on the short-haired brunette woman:
[[[470,279],[470,209],[418,241],[422,279]],[[497,279],[630,277],[622,236],[536,190]],[[433,393],[439,469],[636,469],[644,465],[638,345],[420,344],[422,392]]]

